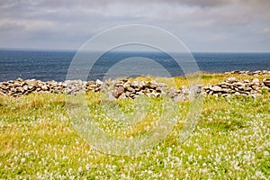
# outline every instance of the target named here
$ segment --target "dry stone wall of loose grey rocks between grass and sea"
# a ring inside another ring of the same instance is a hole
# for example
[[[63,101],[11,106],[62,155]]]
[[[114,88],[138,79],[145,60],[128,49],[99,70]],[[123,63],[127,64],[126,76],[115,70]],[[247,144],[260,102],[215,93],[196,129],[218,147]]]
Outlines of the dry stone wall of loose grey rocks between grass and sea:
[[[261,73],[269,73],[269,71],[256,71],[256,75]],[[233,74],[235,72],[231,72]],[[269,73],[270,74],[270,73]],[[239,81],[237,78],[231,76],[224,82],[217,85],[207,86],[181,86],[179,88],[169,88],[164,83],[157,83],[155,81],[130,81],[128,79],[121,79],[117,81],[102,82],[96,81],[81,81],[81,80],[67,80],[64,82],[47,81],[42,82],[35,79],[18,78],[13,81],[0,83],[0,95],[22,96],[31,93],[54,93],[54,94],[78,94],[80,92],[99,92],[106,91],[112,98],[136,98],[140,94],[158,97],[167,94],[172,99],[177,101],[185,101],[193,98],[196,95],[216,95],[216,96],[230,96],[230,95],[250,95],[257,97],[262,93],[270,92],[270,79]]]

